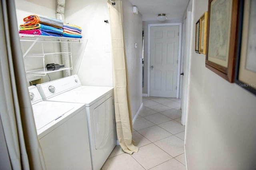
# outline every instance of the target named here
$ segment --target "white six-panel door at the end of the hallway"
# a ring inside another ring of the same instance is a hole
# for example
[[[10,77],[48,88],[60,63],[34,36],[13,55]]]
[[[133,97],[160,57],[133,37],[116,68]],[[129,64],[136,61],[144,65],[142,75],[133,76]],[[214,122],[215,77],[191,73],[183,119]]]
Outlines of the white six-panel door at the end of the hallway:
[[[176,97],[179,26],[150,28],[150,96]]]

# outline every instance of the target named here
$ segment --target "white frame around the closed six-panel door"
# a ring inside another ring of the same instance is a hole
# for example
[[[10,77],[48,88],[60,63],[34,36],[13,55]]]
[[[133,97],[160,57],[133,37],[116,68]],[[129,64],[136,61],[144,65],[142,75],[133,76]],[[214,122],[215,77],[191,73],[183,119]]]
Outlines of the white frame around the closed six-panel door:
[[[176,93],[176,98],[179,98],[182,23],[148,24],[148,97],[150,97],[150,30],[151,30],[151,27],[156,27],[156,26],[179,26],[177,93]]]

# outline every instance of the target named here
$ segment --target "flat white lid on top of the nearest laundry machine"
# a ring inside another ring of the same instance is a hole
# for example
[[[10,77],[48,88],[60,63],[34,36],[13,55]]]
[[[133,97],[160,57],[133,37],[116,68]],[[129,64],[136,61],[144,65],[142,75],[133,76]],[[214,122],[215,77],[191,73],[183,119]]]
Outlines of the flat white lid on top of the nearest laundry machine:
[[[52,104],[53,103],[53,104]],[[32,105],[36,130],[48,125],[68,113],[74,107],[66,103],[42,101]]]

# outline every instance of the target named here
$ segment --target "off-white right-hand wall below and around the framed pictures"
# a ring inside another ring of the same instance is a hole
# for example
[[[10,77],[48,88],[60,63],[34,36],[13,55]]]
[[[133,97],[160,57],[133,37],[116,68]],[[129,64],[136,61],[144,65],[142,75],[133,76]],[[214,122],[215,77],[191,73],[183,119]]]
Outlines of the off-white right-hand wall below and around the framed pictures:
[[[193,0],[193,28],[208,1]],[[195,30],[192,30],[195,41]],[[256,167],[256,96],[205,67],[192,48],[186,156],[188,170],[252,170]]]

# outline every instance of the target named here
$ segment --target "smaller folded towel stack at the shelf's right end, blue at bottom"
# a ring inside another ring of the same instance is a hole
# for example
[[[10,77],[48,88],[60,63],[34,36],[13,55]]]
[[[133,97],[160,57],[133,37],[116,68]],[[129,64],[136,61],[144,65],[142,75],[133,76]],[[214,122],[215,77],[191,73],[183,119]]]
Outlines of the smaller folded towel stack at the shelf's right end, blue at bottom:
[[[63,25],[63,37],[70,38],[82,38],[81,32],[82,28],[72,24],[64,24]]]

